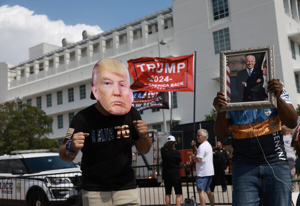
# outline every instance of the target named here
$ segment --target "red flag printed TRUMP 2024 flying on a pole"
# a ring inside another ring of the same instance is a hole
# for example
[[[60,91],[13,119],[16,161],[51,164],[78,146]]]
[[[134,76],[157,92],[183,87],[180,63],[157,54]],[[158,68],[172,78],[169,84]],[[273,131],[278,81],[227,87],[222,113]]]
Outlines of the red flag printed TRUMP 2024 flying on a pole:
[[[193,91],[194,54],[178,57],[141,57],[127,61],[131,89]]]

